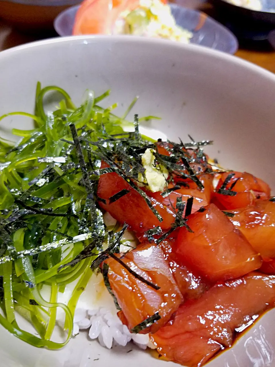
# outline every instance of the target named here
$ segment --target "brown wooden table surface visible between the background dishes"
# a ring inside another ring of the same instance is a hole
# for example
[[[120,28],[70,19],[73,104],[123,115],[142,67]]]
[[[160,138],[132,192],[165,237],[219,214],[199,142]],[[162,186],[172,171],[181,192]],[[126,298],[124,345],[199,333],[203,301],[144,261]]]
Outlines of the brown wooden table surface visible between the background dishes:
[[[207,14],[216,17],[213,7],[207,0],[171,0],[179,5],[195,8],[201,11],[205,11]],[[43,34],[43,38],[55,36],[54,33]],[[40,39],[41,36],[33,36],[20,33],[16,29],[12,28],[7,23],[0,20],[0,51],[7,48],[17,46],[19,44],[31,42]],[[242,44],[239,50],[236,52],[236,56],[253,62],[261,67],[275,73],[275,51],[267,44]]]

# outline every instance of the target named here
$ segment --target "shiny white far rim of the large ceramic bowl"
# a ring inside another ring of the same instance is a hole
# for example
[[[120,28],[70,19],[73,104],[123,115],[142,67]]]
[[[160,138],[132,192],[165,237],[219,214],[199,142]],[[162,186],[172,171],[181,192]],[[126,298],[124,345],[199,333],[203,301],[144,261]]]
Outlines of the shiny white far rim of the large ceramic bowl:
[[[159,45],[159,47],[164,48],[181,48],[182,50],[192,50],[195,54],[205,54],[207,56],[212,56],[217,59],[223,59],[227,62],[234,63],[235,65],[239,65],[244,69],[249,69],[253,73],[260,74],[266,79],[272,80],[275,83],[275,74],[270,72],[267,69],[261,68],[252,62],[246,61],[244,59],[239,58],[238,56],[228,54],[227,52],[215,50],[213,48],[197,45],[197,44],[185,44],[180,42],[173,42],[164,39],[157,38],[147,38],[147,37],[138,37],[138,36],[129,36],[129,35],[118,35],[118,36],[109,36],[105,34],[90,34],[88,36],[67,36],[67,37],[54,37],[46,40],[39,40],[30,43],[25,43],[23,45],[15,46],[8,48],[0,52],[0,64],[1,60],[11,57],[15,53],[19,53],[22,51],[28,51],[32,48],[44,47],[46,45],[52,44],[61,44],[61,43],[83,43],[83,44],[92,44],[96,43],[140,43],[140,44],[152,44]]]

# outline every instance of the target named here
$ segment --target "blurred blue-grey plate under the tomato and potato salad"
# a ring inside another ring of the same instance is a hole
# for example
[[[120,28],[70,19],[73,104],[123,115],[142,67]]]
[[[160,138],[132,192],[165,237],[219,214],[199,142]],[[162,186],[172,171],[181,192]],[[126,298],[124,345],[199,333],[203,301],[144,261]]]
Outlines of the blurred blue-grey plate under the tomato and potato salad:
[[[229,54],[238,50],[238,41],[234,34],[206,14],[170,4],[177,25],[190,30],[194,36],[191,43],[214,48]],[[70,36],[78,6],[61,12],[54,21],[54,28],[60,36]]]

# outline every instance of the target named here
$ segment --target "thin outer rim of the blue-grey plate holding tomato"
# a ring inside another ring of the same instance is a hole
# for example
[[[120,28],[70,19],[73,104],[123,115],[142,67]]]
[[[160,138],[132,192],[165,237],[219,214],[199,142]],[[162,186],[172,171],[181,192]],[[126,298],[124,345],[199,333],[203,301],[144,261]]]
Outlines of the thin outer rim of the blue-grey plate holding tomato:
[[[183,10],[187,10],[187,11],[191,11],[195,14],[204,14],[202,11],[199,11],[197,9],[190,9],[190,8],[186,8],[184,6],[181,6],[179,4],[176,4],[176,3],[169,3],[169,6],[172,9],[183,9]],[[78,9],[80,7],[80,4],[77,4],[77,5],[74,5],[74,6],[71,6],[65,10],[63,10],[62,12],[60,12],[54,19],[54,29],[56,31],[56,33],[59,34],[60,37],[69,37],[69,36],[63,36],[62,34],[59,33],[59,21],[60,19],[62,19],[62,17],[69,11],[72,11],[74,9]],[[230,35],[231,39],[232,39],[232,42],[231,42],[231,47],[230,47],[230,50],[229,51],[226,51],[227,53],[229,54],[232,54],[234,55],[236,53],[236,51],[238,51],[239,49],[239,41],[237,39],[237,37],[235,36],[235,34],[233,32],[231,32],[230,29],[228,29],[226,26],[224,26],[223,24],[221,24],[219,21],[217,21],[216,19],[210,17],[209,15],[207,15],[207,19],[209,22],[213,23],[214,25],[217,26],[217,28],[219,29],[223,29],[223,31],[225,33],[227,33],[228,35]],[[201,45],[200,45],[201,46]]]

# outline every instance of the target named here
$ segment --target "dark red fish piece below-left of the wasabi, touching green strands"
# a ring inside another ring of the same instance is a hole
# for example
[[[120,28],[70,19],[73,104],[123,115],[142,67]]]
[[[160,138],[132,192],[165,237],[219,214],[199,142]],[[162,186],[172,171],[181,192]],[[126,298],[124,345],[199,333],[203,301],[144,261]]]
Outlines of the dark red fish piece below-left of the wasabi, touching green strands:
[[[106,168],[108,165],[103,162],[101,167]],[[129,193],[110,203],[110,197],[123,189],[129,190]],[[175,221],[175,214],[151,196],[150,201],[153,207],[163,219],[162,222],[159,222],[143,197],[120,175],[114,172],[100,176],[98,196],[106,201],[106,204],[103,201],[99,201],[100,207],[108,211],[120,223],[127,223],[131,227],[131,230],[137,233],[143,233],[156,226],[160,226],[161,229],[166,230]]]

